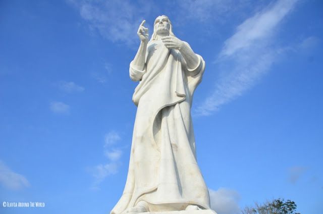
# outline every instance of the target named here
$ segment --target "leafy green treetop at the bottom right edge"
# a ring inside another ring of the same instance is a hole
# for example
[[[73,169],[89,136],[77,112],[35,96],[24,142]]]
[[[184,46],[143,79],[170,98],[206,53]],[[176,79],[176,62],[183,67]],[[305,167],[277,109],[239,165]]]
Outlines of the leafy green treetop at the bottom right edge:
[[[254,207],[246,207],[242,214],[300,214],[296,212],[296,207],[294,201],[279,198],[264,204],[256,203]]]

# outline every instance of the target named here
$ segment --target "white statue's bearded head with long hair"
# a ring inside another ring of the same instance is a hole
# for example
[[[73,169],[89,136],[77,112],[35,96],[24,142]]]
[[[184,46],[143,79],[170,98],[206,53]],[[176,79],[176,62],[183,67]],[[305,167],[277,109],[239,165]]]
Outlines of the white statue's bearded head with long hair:
[[[165,15],[158,16],[155,19],[155,22],[153,23],[153,33],[150,41],[156,40],[157,35],[175,36],[173,33],[171,20]]]

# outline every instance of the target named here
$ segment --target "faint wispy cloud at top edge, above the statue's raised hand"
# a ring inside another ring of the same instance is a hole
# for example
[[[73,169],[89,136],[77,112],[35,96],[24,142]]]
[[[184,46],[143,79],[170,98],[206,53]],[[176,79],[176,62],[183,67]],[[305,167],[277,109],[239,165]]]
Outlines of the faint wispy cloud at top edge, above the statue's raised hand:
[[[70,0],[90,29],[98,31],[113,42],[133,45],[138,41],[136,33],[143,17],[149,14],[152,4],[149,1],[134,4],[131,1],[90,1]]]

